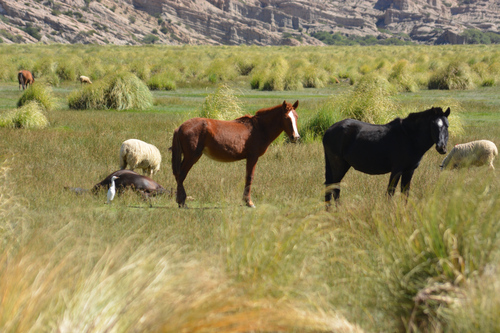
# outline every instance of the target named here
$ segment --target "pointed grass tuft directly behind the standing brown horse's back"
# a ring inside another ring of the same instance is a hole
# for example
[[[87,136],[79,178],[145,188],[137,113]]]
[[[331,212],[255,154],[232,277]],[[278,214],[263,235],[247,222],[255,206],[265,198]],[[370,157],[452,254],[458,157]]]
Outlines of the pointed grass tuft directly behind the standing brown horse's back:
[[[241,102],[234,90],[227,85],[220,85],[209,94],[201,106],[200,117],[219,120],[233,120],[243,116]]]

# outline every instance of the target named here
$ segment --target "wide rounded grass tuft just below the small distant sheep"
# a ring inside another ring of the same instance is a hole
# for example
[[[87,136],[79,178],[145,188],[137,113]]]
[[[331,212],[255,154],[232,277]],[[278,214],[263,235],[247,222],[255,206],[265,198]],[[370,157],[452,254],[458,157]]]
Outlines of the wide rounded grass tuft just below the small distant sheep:
[[[145,110],[153,105],[148,87],[132,73],[121,73],[83,87],[68,97],[71,109]]]

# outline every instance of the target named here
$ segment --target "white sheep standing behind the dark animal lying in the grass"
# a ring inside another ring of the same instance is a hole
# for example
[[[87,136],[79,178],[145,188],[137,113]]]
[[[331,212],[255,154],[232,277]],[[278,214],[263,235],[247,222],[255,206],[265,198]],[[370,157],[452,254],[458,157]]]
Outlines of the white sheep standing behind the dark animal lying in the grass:
[[[125,140],[120,148],[120,169],[125,169],[127,164],[130,170],[139,168],[144,174],[152,177],[160,170],[160,151],[152,144],[141,140]]]

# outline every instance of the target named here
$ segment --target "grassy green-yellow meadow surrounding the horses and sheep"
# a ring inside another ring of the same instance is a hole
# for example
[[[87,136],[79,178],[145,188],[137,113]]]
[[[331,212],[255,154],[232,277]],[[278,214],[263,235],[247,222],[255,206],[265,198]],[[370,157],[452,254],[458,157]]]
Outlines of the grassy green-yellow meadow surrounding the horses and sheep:
[[[2,331],[500,329],[498,161],[495,171],[441,172],[444,155],[433,147],[408,202],[399,189],[385,196],[388,175],[351,169],[339,206],[326,212],[320,141],[325,124],[359,108],[383,122],[450,106],[448,150],[500,144],[500,48],[18,45],[0,53],[0,115],[23,96],[21,67],[52,98],[47,127],[0,127]],[[78,75],[98,87],[114,72],[136,75],[152,104],[70,107],[92,89]],[[303,140],[280,137],[260,158],[256,209],[241,200],[244,161],[206,157],[185,182],[189,209],[179,209],[173,130],[206,111],[221,85],[243,114],[299,100]],[[106,205],[105,192],[65,189],[91,188],[117,170],[129,138],[159,148],[154,179],[172,195],[149,202],[125,193]]]

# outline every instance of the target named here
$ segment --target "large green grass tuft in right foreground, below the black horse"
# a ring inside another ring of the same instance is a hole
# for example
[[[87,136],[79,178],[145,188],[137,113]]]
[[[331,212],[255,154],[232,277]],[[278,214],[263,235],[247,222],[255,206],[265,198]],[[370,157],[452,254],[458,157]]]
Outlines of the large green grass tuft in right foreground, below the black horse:
[[[489,269],[500,245],[500,198],[491,191],[499,183],[479,173],[443,172],[424,200],[336,215],[356,253],[340,266],[361,275],[358,292],[370,298],[364,307],[395,324],[381,331],[447,331],[455,320],[449,313]]]

